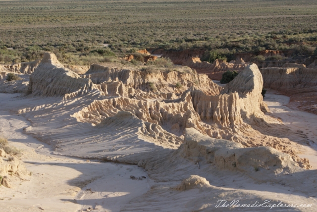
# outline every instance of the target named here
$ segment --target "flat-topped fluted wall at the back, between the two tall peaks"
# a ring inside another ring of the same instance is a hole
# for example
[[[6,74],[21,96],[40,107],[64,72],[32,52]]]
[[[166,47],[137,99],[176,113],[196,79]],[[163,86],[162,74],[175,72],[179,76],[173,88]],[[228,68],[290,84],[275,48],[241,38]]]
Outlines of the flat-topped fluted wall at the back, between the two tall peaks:
[[[120,81],[127,86],[127,89],[143,91],[149,91],[149,83],[153,83],[158,91],[165,93],[181,93],[194,85],[207,94],[218,93],[221,89],[206,75],[193,74],[190,73],[191,70],[187,72],[184,72],[184,68],[175,68],[174,71],[142,71],[125,66],[92,64],[83,78],[89,78],[93,83],[100,84],[102,87],[103,83]],[[180,83],[181,87],[176,88],[176,83]]]

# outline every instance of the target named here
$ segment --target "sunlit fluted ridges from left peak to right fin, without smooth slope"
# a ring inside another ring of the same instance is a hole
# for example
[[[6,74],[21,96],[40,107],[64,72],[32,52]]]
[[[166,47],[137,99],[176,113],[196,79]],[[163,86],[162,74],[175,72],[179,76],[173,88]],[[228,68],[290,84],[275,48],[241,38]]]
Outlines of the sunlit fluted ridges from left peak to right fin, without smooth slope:
[[[263,78],[255,64],[247,66],[223,88],[207,75],[182,72],[183,68],[144,71],[107,65],[93,64],[81,78],[64,68],[54,54],[45,53],[31,75],[29,91],[32,95],[62,96],[71,102],[70,106],[78,104],[75,97],[87,94],[89,101],[76,106],[71,117],[94,126],[106,124],[107,129],[125,123],[133,125],[126,122],[131,119],[139,123],[131,133],[158,146],[177,148],[185,130],[194,128],[205,136],[241,143],[243,147],[273,147],[291,155],[300,166],[310,168],[309,161],[298,158],[294,148],[293,142],[303,138],[288,135],[286,127],[261,110],[265,108]],[[176,87],[176,83],[180,86]],[[151,85],[156,91],[151,91]],[[80,98],[85,99],[85,95]],[[20,113],[43,107],[21,109]]]

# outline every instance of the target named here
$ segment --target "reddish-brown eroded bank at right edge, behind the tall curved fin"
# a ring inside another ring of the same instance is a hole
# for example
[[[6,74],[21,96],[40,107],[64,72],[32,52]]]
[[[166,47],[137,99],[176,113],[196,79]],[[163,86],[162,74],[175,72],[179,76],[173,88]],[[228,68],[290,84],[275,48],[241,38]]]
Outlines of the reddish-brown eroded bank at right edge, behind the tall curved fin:
[[[271,88],[290,97],[288,106],[317,114],[317,68],[303,64],[261,68],[264,88]]]

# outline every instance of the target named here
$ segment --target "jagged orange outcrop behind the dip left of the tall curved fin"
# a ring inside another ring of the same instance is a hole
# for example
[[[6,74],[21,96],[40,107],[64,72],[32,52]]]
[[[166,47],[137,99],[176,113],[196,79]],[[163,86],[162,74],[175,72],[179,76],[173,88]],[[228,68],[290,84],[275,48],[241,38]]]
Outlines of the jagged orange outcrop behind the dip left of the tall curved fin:
[[[209,78],[214,80],[220,80],[225,71],[240,72],[249,64],[250,63],[244,62],[242,58],[230,62],[216,59],[211,64],[206,61],[202,62],[199,57],[191,57],[183,63],[183,65],[194,68],[200,74],[207,74]]]

